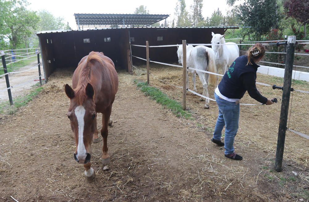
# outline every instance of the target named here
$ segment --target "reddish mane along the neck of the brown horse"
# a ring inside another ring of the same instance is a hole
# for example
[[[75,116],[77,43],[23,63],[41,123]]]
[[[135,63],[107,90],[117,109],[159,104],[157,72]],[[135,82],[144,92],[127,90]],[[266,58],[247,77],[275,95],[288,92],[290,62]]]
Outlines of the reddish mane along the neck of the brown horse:
[[[78,79],[78,84],[77,87],[74,89],[74,94],[76,97],[76,102],[78,105],[82,105],[84,101],[87,99],[86,95],[86,86],[88,83],[90,83],[90,77],[91,77],[91,68],[89,63],[93,63],[95,61],[99,62],[102,66],[103,60],[100,57],[100,55],[104,55],[102,52],[90,52],[89,55],[87,56],[87,59],[81,63],[81,69],[79,71],[79,79]]]

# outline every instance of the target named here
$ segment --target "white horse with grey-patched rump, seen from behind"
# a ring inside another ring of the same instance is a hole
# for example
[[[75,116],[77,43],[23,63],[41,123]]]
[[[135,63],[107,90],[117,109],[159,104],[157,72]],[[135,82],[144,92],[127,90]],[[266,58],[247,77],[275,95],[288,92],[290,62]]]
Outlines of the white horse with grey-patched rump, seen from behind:
[[[181,53],[180,53],[181,49]],[[182,63],[183,60],[183,54],[182,54],[182,45],[178,47],[178,59],[179,63]],[[180,56],[181,55],[181,56]],[[216,72],[216,63],[215,63],[215,53],[211,48],[208,48],[206,46],[187,46],[187,67],[191,67],[194,69],[204,70],[204,71],[210,71],[210,72]],[[213,84],[214,86],[217,86],[218,77],[213,74],[204,73],[201,71],[196,70],[190,70],[187,69],[188,72],[193,74],[193,85],[194,85],[194,91],[196,91],[195,86],[195,75],[197,74],[203,84],[203,94],[206,97],[209,97],[208,94],[208,82]],[[188,74],[187,74],[187,88],[188,88]],[[205,109],[209,109],[209,99],[201,98],[201,101],[205,100]]]

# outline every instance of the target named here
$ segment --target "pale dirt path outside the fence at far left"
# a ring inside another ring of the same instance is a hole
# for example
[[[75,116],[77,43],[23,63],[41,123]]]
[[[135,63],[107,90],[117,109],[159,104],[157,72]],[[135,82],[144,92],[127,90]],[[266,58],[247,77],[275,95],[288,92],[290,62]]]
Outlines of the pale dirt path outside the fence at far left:
[[[25,71],[31,67],[34,67],[36,64],[37,62],[33,62],[29,65],[26,65],[23,68],[18,68],[15,70]],[[41,68],[41,74],[42,74],[41,78],[44,79],[44,73],[42,68]],[[30,92],[31,87],[39,82],[37,81],[38,79],[39,79],[38,68],[33,68],[32,70],[25,71],[22,73],[9,74],[10,86],[13,86],[13,88],[11,88],[11,94],[13,99],[18,96],[26,95],[28,92]],[[6,89],[5,76],[2,76],[0,78],[0,102],[9,100],[7,91],[5,89]]]

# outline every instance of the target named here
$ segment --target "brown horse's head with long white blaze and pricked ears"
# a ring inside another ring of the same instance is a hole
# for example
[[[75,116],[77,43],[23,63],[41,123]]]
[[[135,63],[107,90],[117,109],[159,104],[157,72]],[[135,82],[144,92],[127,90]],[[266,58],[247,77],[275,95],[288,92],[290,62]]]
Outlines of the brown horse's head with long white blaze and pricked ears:
[[[74,159],[80,164],[86,164],[90,162],[91,143],[95,130],[94,89],[90,83],[87,84],[86,89],[78,88],[75,90],[66,84],[65,92],[70,98],[68,118],[76,143]]]

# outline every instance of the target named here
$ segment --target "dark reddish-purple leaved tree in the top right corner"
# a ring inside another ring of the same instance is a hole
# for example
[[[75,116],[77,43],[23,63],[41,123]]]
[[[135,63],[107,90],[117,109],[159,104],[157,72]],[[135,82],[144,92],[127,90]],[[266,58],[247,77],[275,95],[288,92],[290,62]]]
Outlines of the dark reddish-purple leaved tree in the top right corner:
[[[309,23],[309,2],[305,0],[289,0],[284,3],[287,17],[295,18],[304,26],[306,37],[306,25]]]

